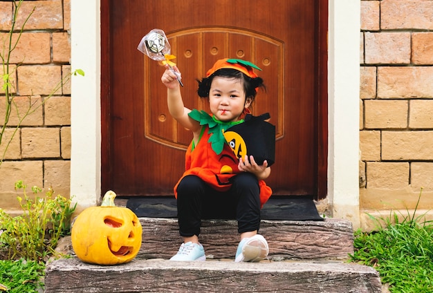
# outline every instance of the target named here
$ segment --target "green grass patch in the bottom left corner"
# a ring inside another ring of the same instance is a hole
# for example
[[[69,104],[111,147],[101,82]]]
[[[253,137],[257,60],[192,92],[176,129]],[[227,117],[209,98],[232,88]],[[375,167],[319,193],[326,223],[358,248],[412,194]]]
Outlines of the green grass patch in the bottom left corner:
[[[0,261],[0,284],[8,293],[40,292],[43,288],[45,264],[37,261]],[[1,290],[0,285],[0,291]]]

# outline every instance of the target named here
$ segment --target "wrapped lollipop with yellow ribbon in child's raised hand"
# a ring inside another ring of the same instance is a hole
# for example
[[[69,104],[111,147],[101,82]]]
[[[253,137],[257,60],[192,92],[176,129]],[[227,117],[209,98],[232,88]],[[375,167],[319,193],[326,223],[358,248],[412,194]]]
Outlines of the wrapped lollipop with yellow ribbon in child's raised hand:
[[[137,49],[141,53],[147,55],[150,59],[161,61],[163,64],[168,64],[169,68],[176,75],[176,79],[178,80],[179,84],[183,86],[181,82],[181,75],[172,67],[176,64],[170,60],[176,57],[174,55],[170,55],[171,47],[163,30],[158,30],[158,28],[151,30],[147,35],[142,37]]]

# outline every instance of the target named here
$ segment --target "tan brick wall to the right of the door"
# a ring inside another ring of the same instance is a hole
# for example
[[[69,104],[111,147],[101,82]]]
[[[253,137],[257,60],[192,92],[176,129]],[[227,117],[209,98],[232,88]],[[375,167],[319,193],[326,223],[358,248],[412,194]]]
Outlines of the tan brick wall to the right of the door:
[[[360,206],[433,200],[433,1],[361,1]]]

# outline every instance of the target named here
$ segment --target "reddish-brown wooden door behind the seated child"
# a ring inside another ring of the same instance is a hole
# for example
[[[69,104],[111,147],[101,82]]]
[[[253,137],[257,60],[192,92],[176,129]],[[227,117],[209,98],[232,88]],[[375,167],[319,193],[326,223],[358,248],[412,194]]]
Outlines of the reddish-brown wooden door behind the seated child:
[[[276,125],[275,195],[326,195],[327,1],[102,0],[102,193],[173,194],[190,131],[167,111],[163,66],[136,48],[165,31],[189,108],[216,59],[251,61],[266,84],[252,113]]]

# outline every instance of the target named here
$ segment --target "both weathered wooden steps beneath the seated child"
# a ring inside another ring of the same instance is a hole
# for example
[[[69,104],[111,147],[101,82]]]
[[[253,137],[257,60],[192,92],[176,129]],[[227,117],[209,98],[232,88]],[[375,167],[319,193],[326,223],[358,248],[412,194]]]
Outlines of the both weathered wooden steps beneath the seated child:
[[[234,263],[234,220],[203,220],[205,262],[168,261],[181,244],[176,219],[140,223],[142,246],[133,261],[89,265],[71,252],[73,258],[47,265],[45,292],[381,292],[376,270],[345,262],[353,253],[348,220],[262,220],[270,254],[260,263]]]

